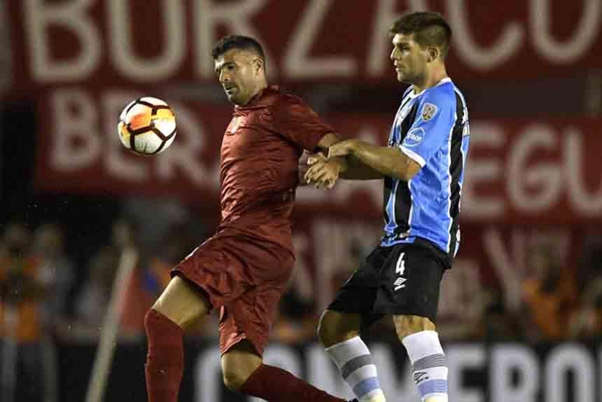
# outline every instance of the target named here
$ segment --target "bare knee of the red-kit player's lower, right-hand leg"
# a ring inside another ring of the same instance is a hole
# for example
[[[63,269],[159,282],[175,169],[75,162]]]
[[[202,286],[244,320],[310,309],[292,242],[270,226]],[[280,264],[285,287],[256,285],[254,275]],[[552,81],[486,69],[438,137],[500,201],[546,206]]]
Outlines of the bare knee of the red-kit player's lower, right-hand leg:
[[[262,363],[255,347],[246,340],[238,342],[222,355],[224,384],[238,390]]]

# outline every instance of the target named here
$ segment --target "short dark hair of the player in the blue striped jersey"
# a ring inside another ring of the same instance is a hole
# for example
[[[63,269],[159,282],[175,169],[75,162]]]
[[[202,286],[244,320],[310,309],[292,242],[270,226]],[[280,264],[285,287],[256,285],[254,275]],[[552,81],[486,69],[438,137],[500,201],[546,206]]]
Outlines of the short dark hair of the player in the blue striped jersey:
[[[439,13],[418,11],[407,13],[393,23],[389,34],[414,34],[414,40],[420,46],[441,48],[441,58],[447,56],[452,40],[452,28]]]

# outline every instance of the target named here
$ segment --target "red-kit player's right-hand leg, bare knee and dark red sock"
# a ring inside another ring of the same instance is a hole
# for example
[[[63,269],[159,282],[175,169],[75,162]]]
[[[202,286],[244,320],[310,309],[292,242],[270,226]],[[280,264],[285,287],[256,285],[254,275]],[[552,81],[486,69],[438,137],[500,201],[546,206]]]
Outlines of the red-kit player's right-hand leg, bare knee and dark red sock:
[[[345,402],[281,368],[265,365],[253,345],[243,340],[222,356],[225,385],[268,402]]]

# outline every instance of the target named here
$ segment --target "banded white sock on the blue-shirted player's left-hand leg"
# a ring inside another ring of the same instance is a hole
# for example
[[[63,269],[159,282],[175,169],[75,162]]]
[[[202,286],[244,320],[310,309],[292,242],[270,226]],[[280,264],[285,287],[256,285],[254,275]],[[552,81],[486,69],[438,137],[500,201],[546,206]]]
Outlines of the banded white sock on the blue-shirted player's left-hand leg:
[[[341,376],[359,402],[386,401],[370,350],[359,336],[326,348],[326,353],[341,370]]]

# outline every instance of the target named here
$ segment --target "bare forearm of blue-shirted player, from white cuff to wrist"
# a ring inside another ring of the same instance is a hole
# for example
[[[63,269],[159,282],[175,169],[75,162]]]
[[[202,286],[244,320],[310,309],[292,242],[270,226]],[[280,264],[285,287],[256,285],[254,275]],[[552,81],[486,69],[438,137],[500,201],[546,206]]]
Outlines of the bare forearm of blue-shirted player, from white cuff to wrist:
[[[402,150],[395,147],[381,147],[364,141],[354,141],[350,155],[379,172],[382,176],[408,181],[412,178],[409,171],[411,159]]]

